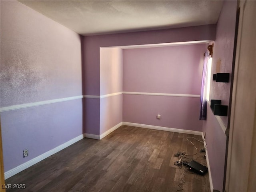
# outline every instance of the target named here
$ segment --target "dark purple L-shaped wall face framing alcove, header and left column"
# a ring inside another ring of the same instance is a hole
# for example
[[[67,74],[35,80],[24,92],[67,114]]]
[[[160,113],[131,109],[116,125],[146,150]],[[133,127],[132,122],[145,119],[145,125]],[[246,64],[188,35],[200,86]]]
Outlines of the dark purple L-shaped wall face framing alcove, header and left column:
[[[100,47],[156,44],[168,42],[184,42],[196,40],[214,40],[216,25],[175,28],[169,30],[153,30],[146,32],[132,32],[86,36],[83,39],[83,94],[100,96]],[[87,100],[87,98],[85,99]],[[88,103],[88,101],[85,101]],[[85,106],[84,111],[100,111],[97,104]],[[86,116],[88,117],[88,116]],[[86,125],[97,125],[100,117],[86,118]],[[96,134],[100,127],[84,127],[86,133]]]

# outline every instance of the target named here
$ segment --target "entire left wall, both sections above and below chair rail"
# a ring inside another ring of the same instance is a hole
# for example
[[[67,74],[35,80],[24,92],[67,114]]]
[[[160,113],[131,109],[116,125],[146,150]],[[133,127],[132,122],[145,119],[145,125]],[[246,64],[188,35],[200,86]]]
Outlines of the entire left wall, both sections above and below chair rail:
[[[1,107],[80,96],[80,36],[20,2],[0,3]],[[1,124],[8,171],[81,135],[82,100],[1,112]]]

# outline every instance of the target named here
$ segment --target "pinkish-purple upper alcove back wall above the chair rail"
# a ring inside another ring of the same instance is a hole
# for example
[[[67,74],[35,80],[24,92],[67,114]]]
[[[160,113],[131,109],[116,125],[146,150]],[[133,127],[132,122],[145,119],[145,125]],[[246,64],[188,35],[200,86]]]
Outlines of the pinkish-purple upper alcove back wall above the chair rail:
[[[200,95],[207,45],[123,50],[123,90]]]

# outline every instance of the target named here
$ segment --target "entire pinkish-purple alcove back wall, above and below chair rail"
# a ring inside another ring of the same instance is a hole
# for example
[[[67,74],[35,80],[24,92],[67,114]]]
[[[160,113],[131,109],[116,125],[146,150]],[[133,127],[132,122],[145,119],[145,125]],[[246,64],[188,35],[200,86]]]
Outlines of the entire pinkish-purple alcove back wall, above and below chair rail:
[[[200,95],[207,45],[124,50],[124,92]],[[124,122],[202,131],[200,98],[124,94],[123,104]]]

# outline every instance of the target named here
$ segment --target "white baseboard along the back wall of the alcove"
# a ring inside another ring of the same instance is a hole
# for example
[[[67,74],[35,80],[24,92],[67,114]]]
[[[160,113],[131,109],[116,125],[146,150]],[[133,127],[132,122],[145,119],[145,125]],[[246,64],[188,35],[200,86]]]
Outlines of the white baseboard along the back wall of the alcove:
[[[176,133],[202,135],[202,132],[200,132],[200,131],[168,128],[168,127],[161,127],[161,126],[154,126],[154,125],[145,125],[145,124],[139,124],[139,123],[123,122],[123,125],[140,127],[140,128],[147,128],[147,129],[156,129],[156,130],[162,130],[162,131],[170,131],[170,132],[176,132]]]

